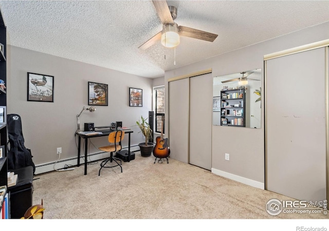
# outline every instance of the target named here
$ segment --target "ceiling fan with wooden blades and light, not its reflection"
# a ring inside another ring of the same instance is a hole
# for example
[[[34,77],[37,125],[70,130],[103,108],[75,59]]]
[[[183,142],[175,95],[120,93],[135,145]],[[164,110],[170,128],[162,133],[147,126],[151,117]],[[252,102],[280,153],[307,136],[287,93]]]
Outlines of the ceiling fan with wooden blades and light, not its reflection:
[[[152,1],[153,5],[159,15],[160,21],[163,24],[162,31],[154,35],[150,40],[142,44],[140,49],[147,49],[158,40],[165,47],[176,47],[179,42],[179,36],[186,36],[213,42],[218,36],[217,34],[209,33],[202,30],[197,30],[189,27],[178,26],[174,23],[177,16],[177,8],[168,6],[167,1]]]

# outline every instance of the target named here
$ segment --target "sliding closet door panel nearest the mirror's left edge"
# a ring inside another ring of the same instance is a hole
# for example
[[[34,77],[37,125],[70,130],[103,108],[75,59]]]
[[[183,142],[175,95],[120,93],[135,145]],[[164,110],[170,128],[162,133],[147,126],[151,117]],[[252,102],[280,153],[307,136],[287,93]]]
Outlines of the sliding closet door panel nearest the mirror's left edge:
[[[212,74],[190,78],[190,164],[211,170]]]

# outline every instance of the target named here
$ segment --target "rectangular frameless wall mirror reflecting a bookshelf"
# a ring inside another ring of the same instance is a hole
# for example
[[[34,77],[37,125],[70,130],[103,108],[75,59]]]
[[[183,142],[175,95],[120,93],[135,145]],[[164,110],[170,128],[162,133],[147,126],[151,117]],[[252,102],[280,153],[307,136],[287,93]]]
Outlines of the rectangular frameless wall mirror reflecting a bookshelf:
[[[213,78],[213,125],[261,128],[262,69]]]

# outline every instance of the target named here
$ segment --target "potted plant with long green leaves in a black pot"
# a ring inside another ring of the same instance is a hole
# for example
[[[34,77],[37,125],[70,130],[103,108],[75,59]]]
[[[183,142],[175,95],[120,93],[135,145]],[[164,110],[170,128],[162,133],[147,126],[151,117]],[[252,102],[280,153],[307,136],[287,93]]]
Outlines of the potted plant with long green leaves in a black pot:
[[[140,148],[140,154],[142,157],[149,157],[152,154],[154,143],[149,142],[152,137],[152,129],[150,124],[147,121],[147,118],[140,117],[140,120],[136,121],[137,126],[142,132],[145,142],[139,143],[138,146]]]

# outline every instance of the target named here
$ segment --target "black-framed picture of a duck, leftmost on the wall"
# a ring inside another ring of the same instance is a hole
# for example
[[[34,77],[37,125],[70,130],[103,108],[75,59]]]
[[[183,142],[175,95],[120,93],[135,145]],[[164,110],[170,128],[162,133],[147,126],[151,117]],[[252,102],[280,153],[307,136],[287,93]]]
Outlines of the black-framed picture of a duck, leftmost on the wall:
[[[54,76],[27,72],[27,101],[53,102]]]

